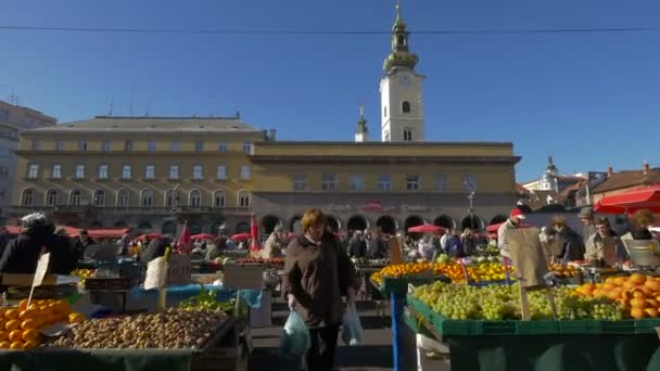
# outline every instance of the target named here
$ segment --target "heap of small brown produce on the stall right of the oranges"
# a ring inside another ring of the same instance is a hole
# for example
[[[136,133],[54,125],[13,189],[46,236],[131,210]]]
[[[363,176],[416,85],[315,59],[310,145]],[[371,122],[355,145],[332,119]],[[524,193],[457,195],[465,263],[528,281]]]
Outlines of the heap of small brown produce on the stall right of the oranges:
[[[214,310],[169,308],[164,314],[92,319],[52,346],[66,348],[200,348],[227,316]]]

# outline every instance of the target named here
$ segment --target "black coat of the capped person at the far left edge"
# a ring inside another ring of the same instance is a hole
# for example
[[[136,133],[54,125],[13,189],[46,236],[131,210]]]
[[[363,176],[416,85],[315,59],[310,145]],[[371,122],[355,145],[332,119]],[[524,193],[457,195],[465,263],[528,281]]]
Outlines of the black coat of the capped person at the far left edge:
[[[41,233],[18,234],[2,252],[0,272],[34,273],[47,236],[48,234]]]

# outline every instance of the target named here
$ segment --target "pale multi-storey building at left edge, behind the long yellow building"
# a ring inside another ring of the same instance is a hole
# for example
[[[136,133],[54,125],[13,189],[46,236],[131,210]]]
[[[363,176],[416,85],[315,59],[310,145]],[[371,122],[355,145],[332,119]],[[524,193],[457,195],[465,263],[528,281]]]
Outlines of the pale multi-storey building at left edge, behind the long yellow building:
[[[56,123],[56,119],[41,112],[0,101],[0,221],[12,200],[15,177],[27,176],[16,174],[14,151],[18,148],[21,130],[53,126]]]

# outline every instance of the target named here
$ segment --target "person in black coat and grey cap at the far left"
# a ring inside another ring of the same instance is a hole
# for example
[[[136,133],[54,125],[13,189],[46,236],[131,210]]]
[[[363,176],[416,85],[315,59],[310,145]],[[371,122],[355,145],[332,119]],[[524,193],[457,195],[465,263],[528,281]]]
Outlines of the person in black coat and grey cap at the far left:
[[[43,213],[30,214],[22,219],[23,231],[11,241],[0,258],[0,272],[34,273],[37,261],[52,236],[55,227]]]

